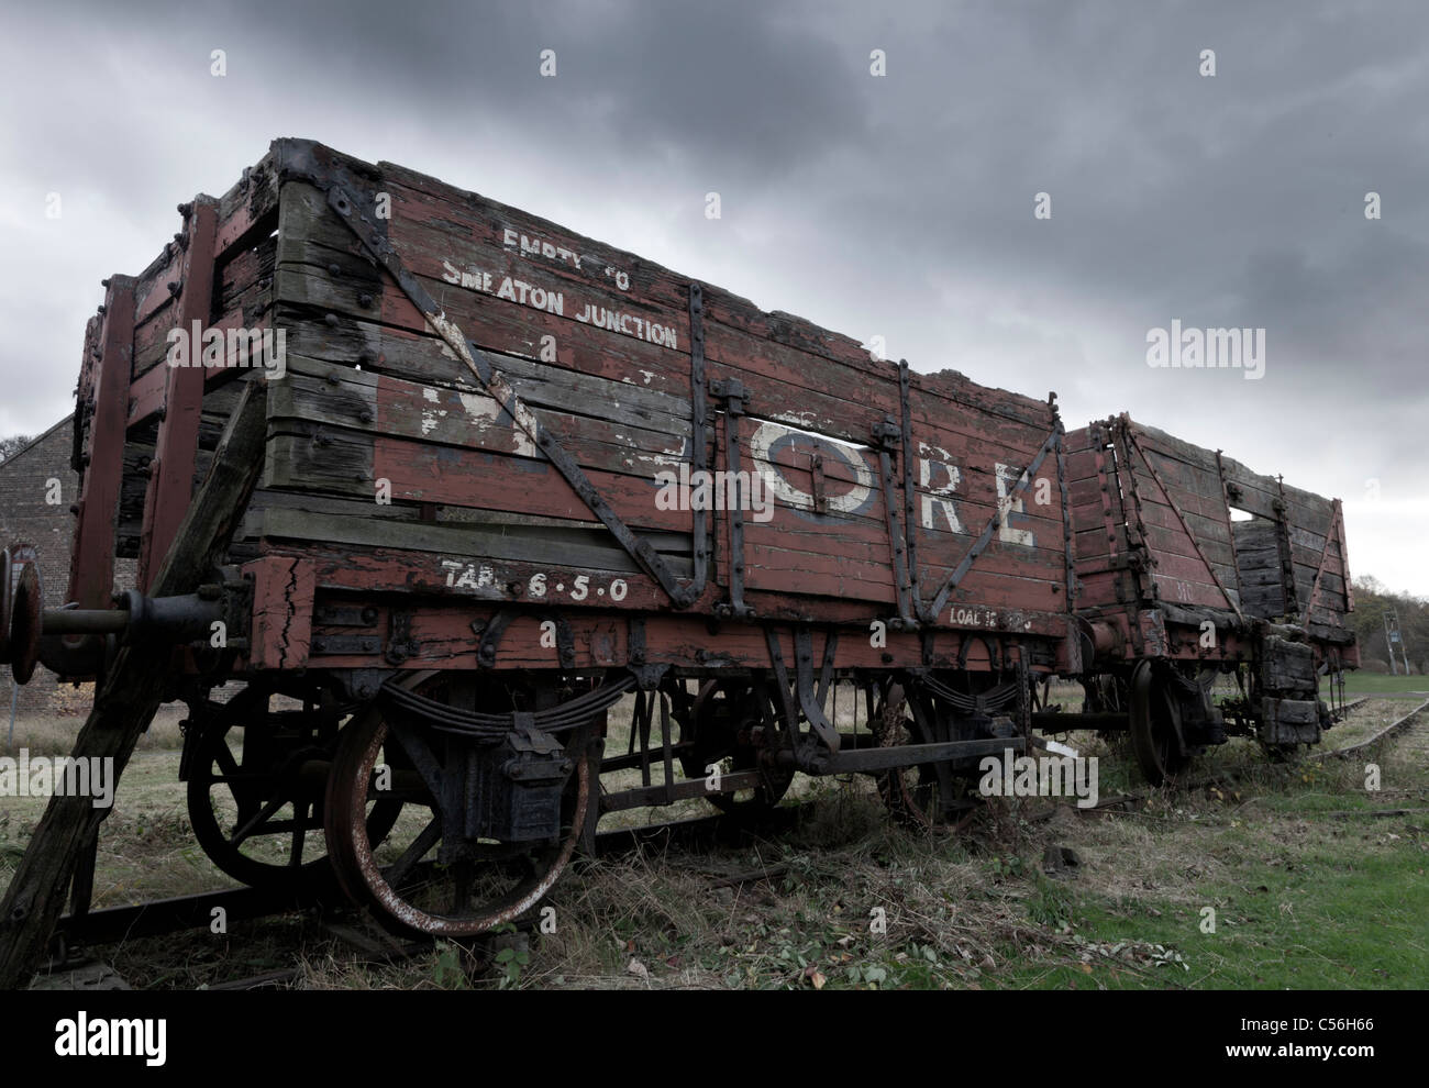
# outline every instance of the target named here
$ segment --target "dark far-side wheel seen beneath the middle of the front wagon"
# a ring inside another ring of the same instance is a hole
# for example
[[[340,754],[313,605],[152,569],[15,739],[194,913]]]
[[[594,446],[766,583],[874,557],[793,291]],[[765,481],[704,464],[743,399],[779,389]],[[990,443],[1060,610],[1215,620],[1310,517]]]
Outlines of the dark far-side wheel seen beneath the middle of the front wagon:
[[[745,680],[702,684],[689,710],[694,750],[680,760],[684,777],[703,778],[709,767],[725,760],[730,762],[729,772],[757,768],[762,747],[755,742],[755,731],[776,728],[777,718],[770,710],[769,692],[762,685]],[[707,794],[704,800],[729,815],[762,812],[779,804],[793,780],[793,768],[767,767],[762,785]]]

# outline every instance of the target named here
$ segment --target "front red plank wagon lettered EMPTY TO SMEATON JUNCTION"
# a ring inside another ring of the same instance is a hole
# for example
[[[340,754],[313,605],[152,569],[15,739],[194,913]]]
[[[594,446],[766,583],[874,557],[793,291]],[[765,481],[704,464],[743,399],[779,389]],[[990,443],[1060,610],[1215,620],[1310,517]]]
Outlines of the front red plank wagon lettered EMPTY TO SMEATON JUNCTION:
[[[1053,398],[304,140],[180,211],[86,331],[73,607],[17,554],[7,653],[174,643],[234,877],[326,848],[379,914],[472,934],[616,810],[866,772],[946,818],[1079,671]]]

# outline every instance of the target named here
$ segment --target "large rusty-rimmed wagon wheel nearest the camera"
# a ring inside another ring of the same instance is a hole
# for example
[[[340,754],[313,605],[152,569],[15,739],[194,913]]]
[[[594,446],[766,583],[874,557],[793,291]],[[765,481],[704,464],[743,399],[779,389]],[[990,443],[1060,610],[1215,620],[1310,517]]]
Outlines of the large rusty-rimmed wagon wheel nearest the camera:
[[[417,687],[416,675],[406,684]],[[437,678],[440,681],[440,677]],[[422,694],[440,698],[440,687]],[[467,857],[439,861],[443,827],[436,800],[382,710],[369,704],[344,731],[324,801],[327,847],[343,891],[396,928],[440,937],[474,937],[530,910],[556,882],[574,852],[590,804],[590,727],[572,730],[566,754],[573,771],[553,840],[464,844]],[[379,768],[397,768],[382,787]],[[386,841],[369,831],[383,797],[407,802]]]

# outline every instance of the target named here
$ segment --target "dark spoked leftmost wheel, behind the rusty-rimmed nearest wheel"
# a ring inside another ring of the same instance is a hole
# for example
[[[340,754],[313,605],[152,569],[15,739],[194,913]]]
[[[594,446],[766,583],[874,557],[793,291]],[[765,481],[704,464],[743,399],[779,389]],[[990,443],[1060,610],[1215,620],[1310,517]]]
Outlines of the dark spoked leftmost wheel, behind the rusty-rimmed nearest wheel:
[[[244,728],[200,727],[189,774],[194,838],[214,865],[254,888],[296,887],[326,868],[327,858],[323,787],[337,738],[322,735],[316,715],[297,718],[296,728],[270,728],[273,720],[254,707]],[[400,811],[399,800],[376,805],[370,832],[386,835]]]

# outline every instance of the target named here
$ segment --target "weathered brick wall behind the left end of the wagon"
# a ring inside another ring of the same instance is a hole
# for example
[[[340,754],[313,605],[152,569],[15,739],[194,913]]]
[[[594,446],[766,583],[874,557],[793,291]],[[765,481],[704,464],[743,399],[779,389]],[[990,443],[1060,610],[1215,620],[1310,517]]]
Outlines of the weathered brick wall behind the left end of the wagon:
[[[70,470],[70,417],[66,417],[0,461],[0,547],[34,545],[40,555],[44,604],[51,608],[64,604],[70,584],[70,537],[74,533],[70,505],[79,498],[79,475]],[[59,488],[51,481],[59,481]],[[59,501],[47,501],[51,497]],[[114,580],[119,590],[133,587],[133,560],[116,561]],[[11,688],[10,670],[0,665],[0,731],[9,727]],[[34,678],[20,688],[17,718],[27,712],[73,708],[76,700],[64,692],[70,688],[57,688],[53,673],[37,668]]]

